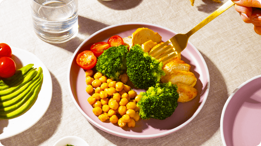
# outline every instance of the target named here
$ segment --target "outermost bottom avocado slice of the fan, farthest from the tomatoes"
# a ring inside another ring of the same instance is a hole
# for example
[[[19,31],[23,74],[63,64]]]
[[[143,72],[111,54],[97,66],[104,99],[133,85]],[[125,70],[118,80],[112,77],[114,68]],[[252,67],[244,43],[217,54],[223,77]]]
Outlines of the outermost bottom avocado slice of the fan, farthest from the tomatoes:
[[[39,72],[41,72],[41,77],[40,81],[33,87],[35,89],[32,89],[32,92],[30,94],[26,95],[19,103],[16,105],[13,105],[12,107],[7,107],[5,108],[4,111],[0,112],[0,118],[3,119],[10,119],[15,116],[19,116],[22,114],[26,109],[29,108],[31,103],[35,100],[35,98],[38,96],[39,90],[41,89],[42,86],[42,80],[43,80],[43,74],[42,74],[42,68],[39,67]],[[8,113],[7,113],[8,111]]]

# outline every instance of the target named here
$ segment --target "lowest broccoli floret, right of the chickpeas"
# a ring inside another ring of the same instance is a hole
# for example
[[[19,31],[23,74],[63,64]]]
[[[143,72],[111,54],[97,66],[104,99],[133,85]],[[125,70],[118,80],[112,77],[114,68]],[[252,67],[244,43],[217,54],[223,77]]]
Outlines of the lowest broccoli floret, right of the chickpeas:
[[[142,98],[137,106],[140,107],[139,115],[142,119],[164,120],[171,116],[178,106],[177,86],[171,82],[157,83],[140,95]]]

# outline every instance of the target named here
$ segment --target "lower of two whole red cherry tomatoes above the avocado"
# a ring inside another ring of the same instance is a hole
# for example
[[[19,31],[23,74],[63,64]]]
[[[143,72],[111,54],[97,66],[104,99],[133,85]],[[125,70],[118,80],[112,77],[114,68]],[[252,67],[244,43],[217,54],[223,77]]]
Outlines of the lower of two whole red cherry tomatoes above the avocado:
[[[13,59],[9,57],[0,58],[0,77],[9,78],[15,74],[16,65]]]

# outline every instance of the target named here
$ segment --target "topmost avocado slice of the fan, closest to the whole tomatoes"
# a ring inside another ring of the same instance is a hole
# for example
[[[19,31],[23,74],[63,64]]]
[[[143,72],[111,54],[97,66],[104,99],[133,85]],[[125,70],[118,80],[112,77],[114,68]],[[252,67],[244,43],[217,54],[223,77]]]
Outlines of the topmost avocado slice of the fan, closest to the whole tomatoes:
[[[17,84],[22,78],[29,74],[32,71],[32,66],[34,64],[26,65],[17,71],[15,74],[10,78],[5,78],[0,80],[0,90],[4,90],[6,88],[12,87],[13,85]]]

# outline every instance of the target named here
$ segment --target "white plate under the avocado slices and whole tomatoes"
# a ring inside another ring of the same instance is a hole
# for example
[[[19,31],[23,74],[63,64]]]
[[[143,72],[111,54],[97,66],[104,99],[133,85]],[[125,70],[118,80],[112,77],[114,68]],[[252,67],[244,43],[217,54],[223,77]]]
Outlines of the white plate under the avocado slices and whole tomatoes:
[[[34,64],[34,68],[41,67],[43,83],[36,102],[27,112],[13,119],[0,119],[0,139],[19,134],[38,122],[48,109],[53,93],[52,78],[45,64],[31,52],[15,47],[11,47],[11,49],[16,69],[31,63]]]

